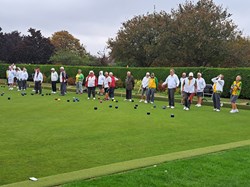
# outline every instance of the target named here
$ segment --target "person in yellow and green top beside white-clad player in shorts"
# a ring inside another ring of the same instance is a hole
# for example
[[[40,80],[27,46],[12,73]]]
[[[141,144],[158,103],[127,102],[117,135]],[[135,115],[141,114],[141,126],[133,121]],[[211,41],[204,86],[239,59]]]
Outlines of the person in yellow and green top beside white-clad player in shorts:
[[[154,73],[151,73],[150,78],[148,80],[148,91],[147,91],[147,100],[145,103],[154,103],[155,91],[158,87],[158,79],[155,77]]]

